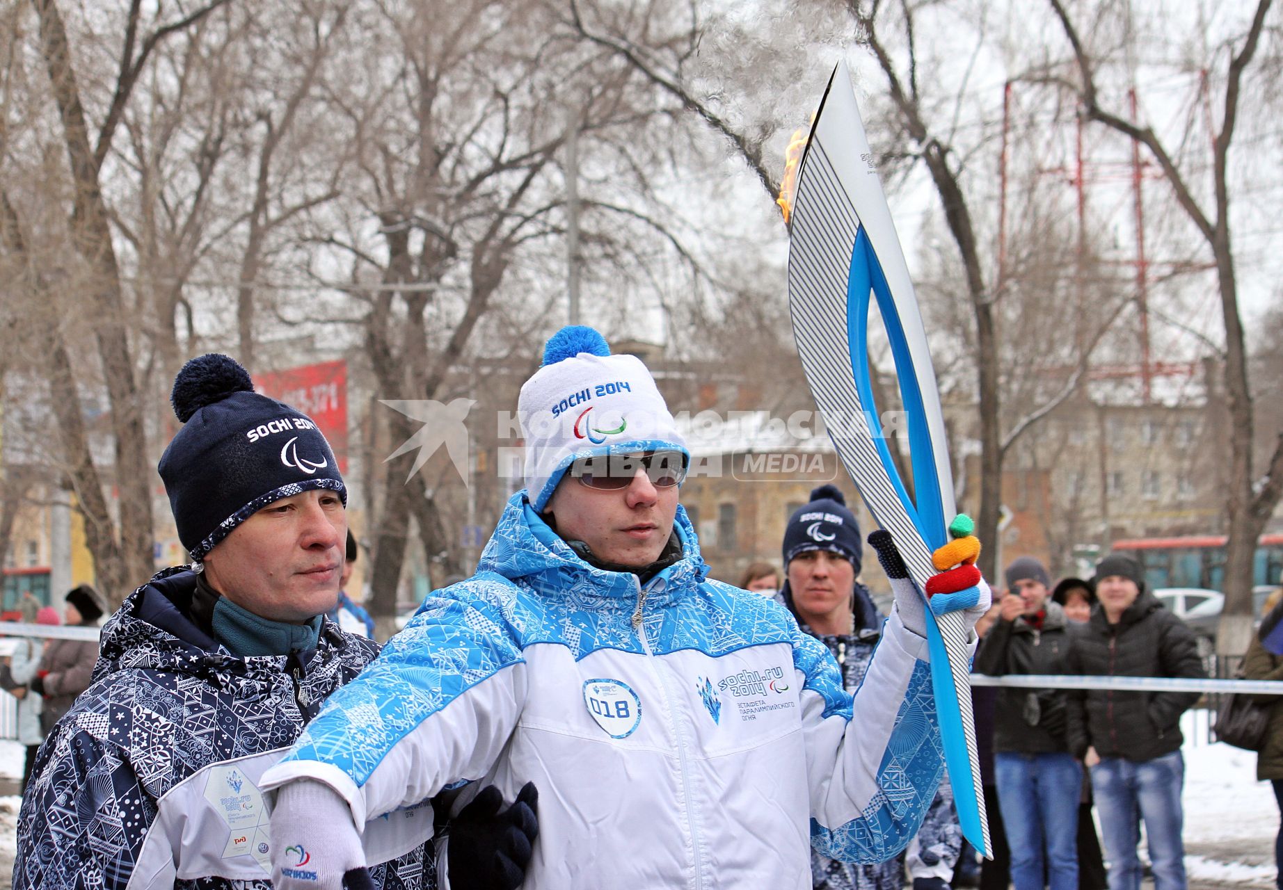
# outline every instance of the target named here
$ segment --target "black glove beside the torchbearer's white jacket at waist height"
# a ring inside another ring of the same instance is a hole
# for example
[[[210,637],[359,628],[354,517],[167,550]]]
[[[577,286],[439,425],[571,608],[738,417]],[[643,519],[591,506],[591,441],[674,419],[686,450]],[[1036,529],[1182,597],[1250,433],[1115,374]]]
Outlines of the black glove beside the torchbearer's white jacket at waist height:
[[[517,794],[508,809],[494,785],[481,793],[450,819],[448,848],[450,886],[455,890],[517,890],[526,877],[526,866],[539,836],[535,805],[539,791],[534,782]]]

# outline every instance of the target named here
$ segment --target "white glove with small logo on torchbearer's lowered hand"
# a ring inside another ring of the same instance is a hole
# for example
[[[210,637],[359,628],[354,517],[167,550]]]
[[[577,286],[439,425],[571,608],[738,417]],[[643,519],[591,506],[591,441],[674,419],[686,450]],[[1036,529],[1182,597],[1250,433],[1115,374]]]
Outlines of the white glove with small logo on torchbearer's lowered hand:
[[[344,881],[372,886],[352,809],[328,785],[309,778],[282,785],[271,837],[276,890],[343,890]]]

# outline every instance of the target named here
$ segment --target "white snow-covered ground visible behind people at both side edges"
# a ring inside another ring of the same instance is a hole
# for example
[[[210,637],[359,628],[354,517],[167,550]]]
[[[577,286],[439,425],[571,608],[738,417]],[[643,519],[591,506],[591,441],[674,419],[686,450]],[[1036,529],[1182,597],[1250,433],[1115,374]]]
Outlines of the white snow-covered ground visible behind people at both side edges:
[[[1269,782],[1256,781],[1256,755],[1207,737],[1205,712],[1191,712],[1185,732],[1185,867],[1194,887],[1274,886],[1279,810]],[[0,740],[0,778],[22,776],[24,749]],[[0,796],[0,890],[13,871],[17,796]]]

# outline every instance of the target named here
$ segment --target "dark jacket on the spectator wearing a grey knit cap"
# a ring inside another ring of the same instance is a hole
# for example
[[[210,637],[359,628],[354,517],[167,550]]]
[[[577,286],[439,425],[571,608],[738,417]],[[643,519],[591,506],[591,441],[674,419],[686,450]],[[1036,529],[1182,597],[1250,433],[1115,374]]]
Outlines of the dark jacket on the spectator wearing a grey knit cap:
[[[1024,616],[998,621],[980,642],[973,671],[1001,677],[1008,673],[1065,673],[1075,627],[1065,610],[1047,600],[1042,628]],[[1020,754],[1057,754],[1067,750],[1065,693],[1002,689],[994,709],[993,750]]]

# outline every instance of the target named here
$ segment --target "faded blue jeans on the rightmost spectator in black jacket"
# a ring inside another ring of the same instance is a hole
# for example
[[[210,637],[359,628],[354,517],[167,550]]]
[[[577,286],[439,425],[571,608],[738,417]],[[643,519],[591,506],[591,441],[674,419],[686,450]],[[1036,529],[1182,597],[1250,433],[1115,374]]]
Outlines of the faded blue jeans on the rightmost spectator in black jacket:
[[[1185,890],[1184,821],[1180,787],[1185,760],[1173,751],[1133,763],[1107,757],[1092,767],[1092,791],[1101,816],[1105,854],[1110,861],[1110,890],[1139,890],[1138,821],[1144,819],[1155,890]]]

